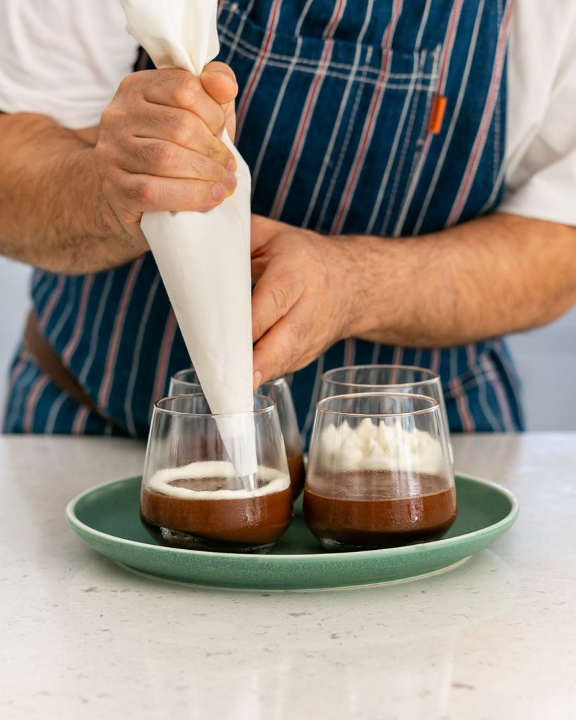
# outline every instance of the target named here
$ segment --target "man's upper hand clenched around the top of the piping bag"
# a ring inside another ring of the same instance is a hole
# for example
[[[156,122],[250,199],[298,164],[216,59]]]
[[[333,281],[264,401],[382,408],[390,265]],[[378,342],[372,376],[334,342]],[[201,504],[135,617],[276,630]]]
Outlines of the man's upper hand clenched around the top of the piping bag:
[[[211,210],[236,186],[235,161],[220,137],[234,137],[233,72],[210,63],[197,78],[151,70],[124,78],[102,113],[96,166],[114,215],[142,238],[148,210]]]

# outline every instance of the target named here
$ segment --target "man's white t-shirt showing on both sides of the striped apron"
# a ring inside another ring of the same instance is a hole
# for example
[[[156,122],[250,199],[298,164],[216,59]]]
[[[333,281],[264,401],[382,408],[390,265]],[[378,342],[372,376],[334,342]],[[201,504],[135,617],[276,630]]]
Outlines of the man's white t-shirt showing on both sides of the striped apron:
[[[120,0],[4,0],[0,109],[98,125],[138,46]],[[576,225],[576,2],[515,0],[501,212]]]

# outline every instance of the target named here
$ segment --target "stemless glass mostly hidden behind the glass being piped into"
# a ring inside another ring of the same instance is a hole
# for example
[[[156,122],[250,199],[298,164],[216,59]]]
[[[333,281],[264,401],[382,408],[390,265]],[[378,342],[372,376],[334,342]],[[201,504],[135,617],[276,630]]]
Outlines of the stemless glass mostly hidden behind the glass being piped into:
[[[181,370],[170,379],[170,390],[168,395],[188,395],[191,392],[202,392],[198,382],[198,376],[194,368]],[[290,472],[290,485],[292,495],[295,498],[300,495],[304,487],[305,469],[302,454],[302,443],[298,433],[298,420],[292,392],[285,377],[279,377],[270,382],[264,382],[256,390],[258,395],[266,395],[276,402],[280,430],[284,438],[286,455],[288,458],[288,469]]]

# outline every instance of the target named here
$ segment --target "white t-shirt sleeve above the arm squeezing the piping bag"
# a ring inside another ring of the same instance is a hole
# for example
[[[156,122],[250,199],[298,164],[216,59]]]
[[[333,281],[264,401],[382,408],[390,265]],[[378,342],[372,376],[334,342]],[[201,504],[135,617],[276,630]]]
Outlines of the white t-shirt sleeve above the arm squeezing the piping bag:
[[[137,56],[120,0],[1,2],[0,111],[98,125]]]

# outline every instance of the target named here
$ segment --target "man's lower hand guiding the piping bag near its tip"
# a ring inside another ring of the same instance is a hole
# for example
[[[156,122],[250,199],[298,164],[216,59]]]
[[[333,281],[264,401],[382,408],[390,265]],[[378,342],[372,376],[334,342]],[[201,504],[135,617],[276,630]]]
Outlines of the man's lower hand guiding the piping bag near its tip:
[[[254,387],[354,334],[356,262],[346,238],[252,217]]]

